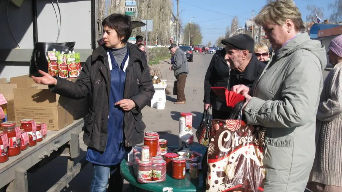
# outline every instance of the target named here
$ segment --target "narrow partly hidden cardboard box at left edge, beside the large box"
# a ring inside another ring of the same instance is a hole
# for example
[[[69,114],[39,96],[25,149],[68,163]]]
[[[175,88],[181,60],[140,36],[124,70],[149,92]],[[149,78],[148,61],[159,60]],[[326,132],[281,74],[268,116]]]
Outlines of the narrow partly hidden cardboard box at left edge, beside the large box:
[[[14,113],[14,95],[13,90],[17,88],[16,84],[0,84],[0,93],[3,94],[7,101],[7,118],[8,121],[15,121]]]

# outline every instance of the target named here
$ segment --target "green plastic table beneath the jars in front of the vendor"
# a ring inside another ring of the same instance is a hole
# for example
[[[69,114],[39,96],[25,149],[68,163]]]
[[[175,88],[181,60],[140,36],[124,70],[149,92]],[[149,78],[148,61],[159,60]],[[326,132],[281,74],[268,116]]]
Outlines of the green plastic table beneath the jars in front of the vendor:
[[[192,147],[192,151],[204,154],[206,152],[205,146]],[[166,181],[161,183],[139,183],[134,175],[133,167],[127,165],[126,159],[120,164],[120,172],[126,181],[130,183],[130,192],[139,192],[143,190],[153,192],[163,192],[163,188],[173,188],[172,192],[205,192],[205,183],[203,182],[203,172],[200,169],[199,179],[190,179],[189,170],[187,170],[185,179],[173,179],[170,174],[167,174]]]

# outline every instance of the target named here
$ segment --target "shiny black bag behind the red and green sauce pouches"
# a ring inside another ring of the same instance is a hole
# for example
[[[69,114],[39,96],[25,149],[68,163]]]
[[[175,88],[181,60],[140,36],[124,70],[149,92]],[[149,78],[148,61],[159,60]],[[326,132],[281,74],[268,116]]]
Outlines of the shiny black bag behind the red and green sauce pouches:
[[[30,61],[29,76],[41,76],[38,70],[48,73],[48,51],[53,51],[53,49],[55,49],[56,51],[68,53],[69,51],[74,50],[75,43],[75,41],[64,43],[35,43]]]

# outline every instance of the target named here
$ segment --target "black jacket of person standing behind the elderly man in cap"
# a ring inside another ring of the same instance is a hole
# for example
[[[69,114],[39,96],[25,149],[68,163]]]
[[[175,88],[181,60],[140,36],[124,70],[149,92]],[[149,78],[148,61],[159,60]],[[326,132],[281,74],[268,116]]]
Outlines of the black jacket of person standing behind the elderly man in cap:
[[[229,73],[231,67],[224,60],[226,49],[216,50],[212,57],[204,78],[204,103],[210,103],[215,110],[229,112],[226,101],[211,90],[211,87],[225,87],[229,89]]]

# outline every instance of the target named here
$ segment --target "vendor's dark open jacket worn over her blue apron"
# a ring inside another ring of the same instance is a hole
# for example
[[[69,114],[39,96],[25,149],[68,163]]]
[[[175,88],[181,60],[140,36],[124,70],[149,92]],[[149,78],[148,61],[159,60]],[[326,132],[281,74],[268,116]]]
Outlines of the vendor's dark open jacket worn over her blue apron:
[[[136,105],[131,111],[124,112],[124,140],[128,147],[144,141],[146,126],[142,121],[141,110],[152,99],[155,91],[143,53],[131,43],[127,43],[127,48],[129,62],[123,99],[131,99]],[[75,83],[57,77],[57,85],[50,86],[51,91],[70,99],[81,99],[89,95],[83,141],[98,151],[106,149],[110,79],[107,48],[102,45],[88,57]]]

